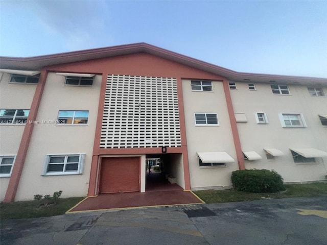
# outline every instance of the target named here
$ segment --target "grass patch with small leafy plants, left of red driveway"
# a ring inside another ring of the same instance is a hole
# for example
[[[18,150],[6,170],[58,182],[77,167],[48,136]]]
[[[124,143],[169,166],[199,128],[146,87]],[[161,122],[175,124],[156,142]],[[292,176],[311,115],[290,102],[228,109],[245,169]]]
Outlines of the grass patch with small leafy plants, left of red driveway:
[[[0,204],[0,219],[38,218],[64,214],[84,198],[58,199],[56,204],[37,208],[40,201],[24,201]]]

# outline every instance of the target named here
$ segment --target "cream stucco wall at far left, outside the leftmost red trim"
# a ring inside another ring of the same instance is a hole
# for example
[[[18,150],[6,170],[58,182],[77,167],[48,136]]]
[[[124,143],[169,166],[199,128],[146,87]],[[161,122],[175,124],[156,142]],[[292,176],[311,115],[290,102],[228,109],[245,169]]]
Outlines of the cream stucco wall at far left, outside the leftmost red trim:
[[[0,109],[30,109],[36,84],[9,83],[10,74],[0,72]],[[0,155],[17,155],[24,125],[0,125]],[[10,177],[0,178],[0,201],[3,201]]]

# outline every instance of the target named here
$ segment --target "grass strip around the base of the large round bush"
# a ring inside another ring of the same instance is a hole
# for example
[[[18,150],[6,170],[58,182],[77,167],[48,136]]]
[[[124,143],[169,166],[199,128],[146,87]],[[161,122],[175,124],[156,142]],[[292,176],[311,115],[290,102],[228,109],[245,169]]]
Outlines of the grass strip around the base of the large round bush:
[[[198,190],[194,191],[205,203],[229,203],[261,200],[267,198],[312,197],[327,194],[327,183],[285,185],[286,191],[275,193],[251,193],[237,190]]]

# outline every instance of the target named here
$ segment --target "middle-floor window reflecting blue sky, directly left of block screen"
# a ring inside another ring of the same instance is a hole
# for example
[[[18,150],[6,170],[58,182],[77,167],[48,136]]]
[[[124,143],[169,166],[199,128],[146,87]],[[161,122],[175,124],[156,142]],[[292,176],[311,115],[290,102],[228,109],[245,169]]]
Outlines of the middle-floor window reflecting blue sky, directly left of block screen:
[[[59,111],[57,124],[87,124],[88,111]]]

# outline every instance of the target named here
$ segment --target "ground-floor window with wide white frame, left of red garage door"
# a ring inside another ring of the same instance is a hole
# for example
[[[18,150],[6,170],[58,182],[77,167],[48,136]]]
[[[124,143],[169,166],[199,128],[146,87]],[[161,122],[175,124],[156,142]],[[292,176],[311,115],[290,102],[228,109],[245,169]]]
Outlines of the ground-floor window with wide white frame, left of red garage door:
[[[83,173],[85,154],[46,155],[43,175],[78,175]]]

